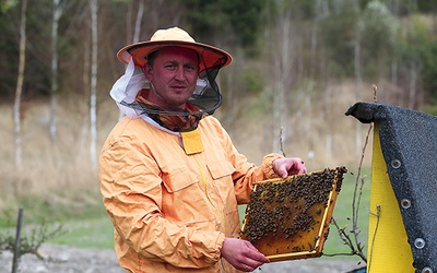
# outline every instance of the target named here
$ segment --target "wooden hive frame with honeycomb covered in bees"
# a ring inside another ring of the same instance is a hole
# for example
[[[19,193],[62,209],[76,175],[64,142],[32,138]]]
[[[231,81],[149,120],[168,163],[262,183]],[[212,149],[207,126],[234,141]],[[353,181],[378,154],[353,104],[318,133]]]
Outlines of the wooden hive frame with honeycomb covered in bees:
[[[327,168],[256,183],[241,238],[270,261],[320,257],[346,171]]]

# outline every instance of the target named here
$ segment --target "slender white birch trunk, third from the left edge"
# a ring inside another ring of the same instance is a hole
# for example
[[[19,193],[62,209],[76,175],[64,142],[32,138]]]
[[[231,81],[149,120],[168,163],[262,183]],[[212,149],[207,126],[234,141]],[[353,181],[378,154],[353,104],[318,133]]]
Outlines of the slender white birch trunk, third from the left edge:
[[[90,0],[91,8],[91,94],[90,94],[90,156],[91,165],[97,169],[97,0]]]

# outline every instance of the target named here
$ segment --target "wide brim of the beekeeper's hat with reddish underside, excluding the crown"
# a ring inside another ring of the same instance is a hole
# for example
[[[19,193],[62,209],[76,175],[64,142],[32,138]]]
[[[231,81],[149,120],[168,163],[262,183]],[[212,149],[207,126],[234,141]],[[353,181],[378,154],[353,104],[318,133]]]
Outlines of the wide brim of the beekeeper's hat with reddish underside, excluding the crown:
[[[198,52],[202,58],[199,63],[200,71],[214,67],[224,68],[232,62],[232,56],[222,49],[201,43],[181,40],[156,40],[132,44],[121,48],[117,54],[117,58],[125,63],[129,63],[132,58],[135,66],[143,68],[147,63],[146,56],[164,47],[172,46],[189,48]]]

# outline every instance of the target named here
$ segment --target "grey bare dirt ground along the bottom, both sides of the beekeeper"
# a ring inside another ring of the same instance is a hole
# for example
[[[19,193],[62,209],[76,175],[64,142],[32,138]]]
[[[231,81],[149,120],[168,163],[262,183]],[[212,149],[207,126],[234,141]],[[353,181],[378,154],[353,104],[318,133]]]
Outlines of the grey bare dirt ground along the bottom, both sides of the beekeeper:
[[[21,273],[123,273],[118,265],[116,256],[110,249],[74,248],[69,246],[47,244],[40,247],[40,254],[47,261],[40,261],[35,256],[21,258]],[[253,272],[260,273],[344,273],[359,268],[356,261],[340,261],[338,259],[309,259],[284,261],[264,264]],[[12,254],[3,252],[0,256],[0,272],[11,272]]]

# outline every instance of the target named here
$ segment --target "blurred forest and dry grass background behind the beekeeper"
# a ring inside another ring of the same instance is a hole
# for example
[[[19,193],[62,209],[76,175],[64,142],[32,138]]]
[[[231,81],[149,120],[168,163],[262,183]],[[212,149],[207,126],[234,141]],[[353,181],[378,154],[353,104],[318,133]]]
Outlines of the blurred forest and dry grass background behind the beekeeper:
[[[259,164],[358,167],[358,100],[437,115],[433,0],[1,0],[0,224],[102,213],[97,157],[119,119],[109,97],[127,44],[179,26],[231,52],[214,114]],[[414,130],[414,129],[412,129]],[[365,158],[369,166],[370,154]],[[97,207],[97,209],[93,209]]]

